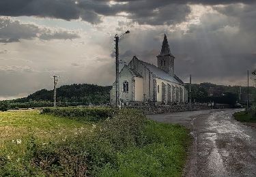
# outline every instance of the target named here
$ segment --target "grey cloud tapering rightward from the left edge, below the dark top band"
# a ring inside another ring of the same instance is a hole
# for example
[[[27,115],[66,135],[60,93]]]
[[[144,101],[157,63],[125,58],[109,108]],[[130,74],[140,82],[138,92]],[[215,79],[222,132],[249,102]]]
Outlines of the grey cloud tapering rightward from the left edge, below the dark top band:
[[[43,40],[76,39],[79,35],[71,31],[22,23],[11,18],[0,18],[0,43],[19,42],[20,39],[34,39],[36,37]]]

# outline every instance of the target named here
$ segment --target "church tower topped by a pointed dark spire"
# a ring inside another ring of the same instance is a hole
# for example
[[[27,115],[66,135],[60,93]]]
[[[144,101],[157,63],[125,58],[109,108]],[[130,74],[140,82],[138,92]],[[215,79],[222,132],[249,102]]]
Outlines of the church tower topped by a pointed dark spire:
[[[175,57],[171,54],[167,36],[165,35],[164,40],[162,41],[161,52],[157,56],[157,65],[169,75],[174,76],[174,59]]]

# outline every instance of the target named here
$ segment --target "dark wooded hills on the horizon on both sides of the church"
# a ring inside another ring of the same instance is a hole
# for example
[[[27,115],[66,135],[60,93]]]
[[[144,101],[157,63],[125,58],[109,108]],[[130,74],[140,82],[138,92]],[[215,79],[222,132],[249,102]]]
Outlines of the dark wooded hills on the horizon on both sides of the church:
[[[188,89],[188,84],[185,84]],[[57,88],[57,106],[102,105],[109,103],[112,86],[95,84],[71,84]],[[247,87],[242,86],[241,98],[247,98]],[[240,101],[240,86],[223,86],[211,83],[191,85],[192,101],[235,104]],[[256,101],[256,88],[249,87],[250,100]],[[246,101],[242,100],[243,103]],[[0,110],[16,108],[41,108],[53,106],[53,90],[42,89],[31,95],[8,101],[0,101]]]

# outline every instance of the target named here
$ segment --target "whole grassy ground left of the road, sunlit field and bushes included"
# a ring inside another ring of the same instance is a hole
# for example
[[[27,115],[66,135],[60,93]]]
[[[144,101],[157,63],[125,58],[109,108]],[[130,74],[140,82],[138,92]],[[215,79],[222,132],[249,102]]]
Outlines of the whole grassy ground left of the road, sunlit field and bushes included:
[[[184,127],[137,110],[45,112],[0,113],[2,176],[182,176],[190,142]]]

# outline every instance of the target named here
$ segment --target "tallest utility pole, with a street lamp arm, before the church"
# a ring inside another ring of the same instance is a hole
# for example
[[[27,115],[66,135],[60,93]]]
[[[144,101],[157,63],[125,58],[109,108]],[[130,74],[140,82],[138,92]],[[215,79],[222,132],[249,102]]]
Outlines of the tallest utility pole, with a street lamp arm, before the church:
[[[118,43],[119,43],[119,38],[122,37],[125,34],[130,33],[130,31],[126,31],[126,33],[118,36],[117,34],[115,35],[115,98],[116,98],[116,104],[117,107],[121,106],[120,99],[119,99],[119,48],[118,48]]]

